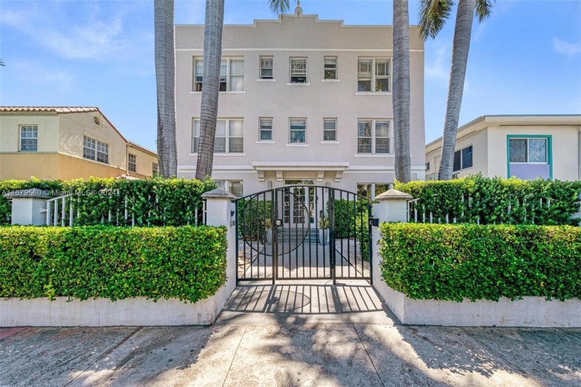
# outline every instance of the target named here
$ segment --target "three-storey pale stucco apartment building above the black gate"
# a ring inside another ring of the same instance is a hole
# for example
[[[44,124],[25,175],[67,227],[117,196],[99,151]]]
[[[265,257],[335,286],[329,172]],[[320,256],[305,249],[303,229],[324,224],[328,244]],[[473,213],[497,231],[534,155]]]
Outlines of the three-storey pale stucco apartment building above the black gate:
[[[412,178],[424,179],[424,49],[410,27]],[[223,27],[212,178],[235,195],[287,184],[377,195],[395,178],[391,26],[282,15]],[[176,26],[178,177],[193,178],[203,26]]]

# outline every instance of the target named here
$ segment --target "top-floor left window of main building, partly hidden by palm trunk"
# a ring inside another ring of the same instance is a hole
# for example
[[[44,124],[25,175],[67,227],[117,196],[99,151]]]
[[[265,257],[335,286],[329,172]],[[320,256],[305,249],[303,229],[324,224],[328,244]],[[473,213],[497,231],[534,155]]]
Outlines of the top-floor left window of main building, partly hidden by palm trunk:
[[[194,91],[202,91],[203,57],[194,57]],[[244,91],[244,59],[223,57],[220,62],[220,91]]]

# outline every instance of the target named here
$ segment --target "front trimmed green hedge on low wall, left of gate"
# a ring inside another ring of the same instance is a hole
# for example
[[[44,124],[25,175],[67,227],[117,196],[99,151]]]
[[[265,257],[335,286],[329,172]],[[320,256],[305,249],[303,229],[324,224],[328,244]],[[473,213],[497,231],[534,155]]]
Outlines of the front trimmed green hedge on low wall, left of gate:
[[[225,283],[225,228],[0,227],[0,297],[195,303]]]

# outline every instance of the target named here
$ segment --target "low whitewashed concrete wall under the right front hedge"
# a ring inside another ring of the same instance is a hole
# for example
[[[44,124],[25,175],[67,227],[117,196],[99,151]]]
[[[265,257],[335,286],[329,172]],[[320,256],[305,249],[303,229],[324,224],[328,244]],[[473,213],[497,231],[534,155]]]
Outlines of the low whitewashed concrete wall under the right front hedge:
[[[374,227],[374,246],[380,239]],[[413,300],[388,287],[381,278],[381,256],[374,247],[374,288],[391,312],[403,324],[444,325],[454,327],[581,327],[581,300],[547,301],[542,297],[524,297],[498,302],[477,300],[462,303],[438,300]]]

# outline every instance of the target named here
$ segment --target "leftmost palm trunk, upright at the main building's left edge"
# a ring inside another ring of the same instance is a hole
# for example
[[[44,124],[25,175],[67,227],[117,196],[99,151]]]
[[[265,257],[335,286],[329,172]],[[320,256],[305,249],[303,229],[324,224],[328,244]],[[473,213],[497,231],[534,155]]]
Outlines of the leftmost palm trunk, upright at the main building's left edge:
[[[174,0],[154,0],[154,20],[159,172],[170,178],[178,173]]]

